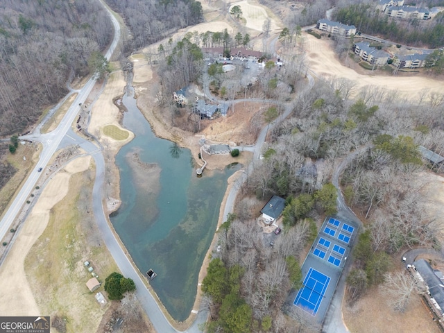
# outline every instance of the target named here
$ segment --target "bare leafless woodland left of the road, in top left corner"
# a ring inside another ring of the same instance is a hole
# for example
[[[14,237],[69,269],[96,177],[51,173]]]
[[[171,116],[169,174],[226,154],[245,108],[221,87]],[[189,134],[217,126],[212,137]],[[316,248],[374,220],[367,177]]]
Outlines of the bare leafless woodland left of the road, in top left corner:
[[[0,135],[22,133],[67,93],[69,76],[110,42],[113,28],[98,1],[2,1]]]

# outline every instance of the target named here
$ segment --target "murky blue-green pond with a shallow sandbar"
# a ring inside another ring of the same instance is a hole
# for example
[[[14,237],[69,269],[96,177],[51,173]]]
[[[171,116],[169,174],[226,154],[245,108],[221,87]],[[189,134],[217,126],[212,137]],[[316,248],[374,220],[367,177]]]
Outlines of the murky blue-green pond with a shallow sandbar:
[[[157,273],[150,283],[171,316],[184,321],[194,304],[198,273],[216,230],[227,179],[240,166],[205,169],[197,178],[190,151],[155,137],[133,96],[124,96],[123,104],[128,108],[123,126],[135,133],[135,139],[116,157],[122,205],[111,222],[139,270],[153,268]],[[155,163],[162,170],[154,198],[138,190],[126,159],[133,152],[141,162]],[[148,202],[157,205],[155,216],[146,213]]]

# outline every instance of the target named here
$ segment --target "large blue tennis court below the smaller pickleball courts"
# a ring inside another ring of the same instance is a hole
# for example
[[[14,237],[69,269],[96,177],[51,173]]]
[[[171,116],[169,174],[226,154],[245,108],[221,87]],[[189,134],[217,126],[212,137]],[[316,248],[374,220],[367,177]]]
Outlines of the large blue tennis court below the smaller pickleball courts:
[[[303,287],[299,290],[293,305],[296,305],[312,316],[315,316],[329,283],[330,278],[327,275],[310,267],[307,276],[302,283]]]

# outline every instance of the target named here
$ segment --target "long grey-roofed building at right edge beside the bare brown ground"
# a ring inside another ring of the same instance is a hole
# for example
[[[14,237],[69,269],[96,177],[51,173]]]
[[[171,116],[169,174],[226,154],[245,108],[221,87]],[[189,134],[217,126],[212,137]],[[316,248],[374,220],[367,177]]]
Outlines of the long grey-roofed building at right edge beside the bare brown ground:
[[[411,268],[415,271],[416,278],[425,284],[425,290],[429,297],[427,302],[432,304],[435,313],[444,316],[444,280],[443,273],[434,270],[430,264],[424,260],[419,259],[413,262]],[[415,276],[413,275],[413,276]],[[418,277],[418,275],[420,275]]]

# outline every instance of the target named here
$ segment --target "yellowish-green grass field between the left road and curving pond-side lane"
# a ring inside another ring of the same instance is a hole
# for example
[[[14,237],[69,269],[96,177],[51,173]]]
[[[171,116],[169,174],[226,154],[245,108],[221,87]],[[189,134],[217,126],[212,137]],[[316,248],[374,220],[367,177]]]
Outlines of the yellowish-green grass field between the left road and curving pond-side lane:
[[[96,332],[110,302],[101,307],[94,295],[118,271],[92,216],[92,179],[94,167],[71,176],[67,196],[51,210],[48,226],[25,260],[37,305],[51,322],[63,318],[66,332]],[[85,285],[92,278],[86,260],[103,283],[94,293]]]

